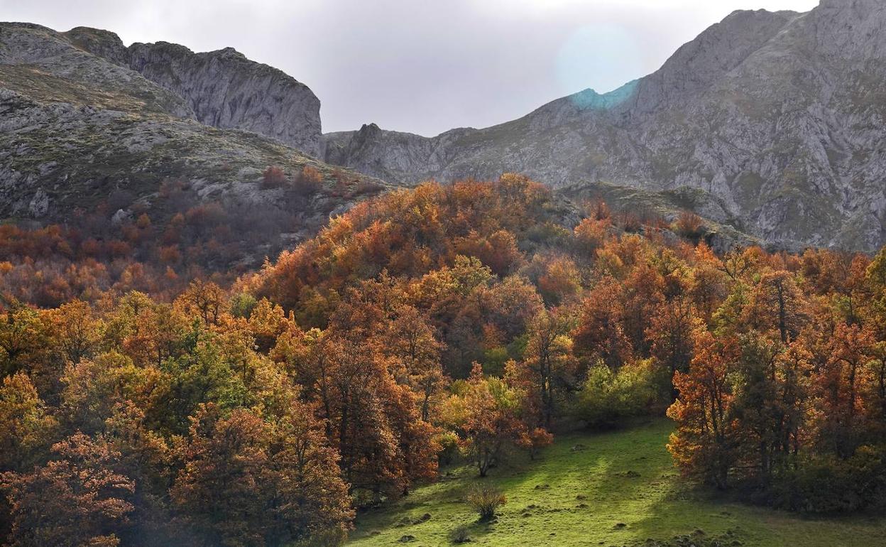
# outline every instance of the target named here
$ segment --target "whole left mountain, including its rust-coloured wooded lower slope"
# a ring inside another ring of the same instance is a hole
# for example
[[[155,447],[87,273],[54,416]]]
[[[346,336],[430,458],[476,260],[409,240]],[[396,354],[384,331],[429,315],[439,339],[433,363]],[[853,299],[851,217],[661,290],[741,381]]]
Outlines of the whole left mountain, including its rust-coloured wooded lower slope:
[[[187,89],[155,74],[164,63]],[[175,293],[259,267],[387,188],[284,144],[301,131],[315,147],[318,109],[305,86],[233,51],[130,51],[96,29],[0,24],[6,289],[58,305],[87,285],[157,292],[168,274]]]

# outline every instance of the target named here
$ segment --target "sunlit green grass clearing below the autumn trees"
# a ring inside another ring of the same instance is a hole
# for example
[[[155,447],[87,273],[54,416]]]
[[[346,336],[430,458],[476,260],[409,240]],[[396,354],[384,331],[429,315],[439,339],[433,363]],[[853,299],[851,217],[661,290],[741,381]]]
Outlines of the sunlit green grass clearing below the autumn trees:
[[[515,457],[514,466],[485,480],[470,467],[444,470],[439,482],[361,513],[348,545],[449,545],[459,525],[470,526],[470,545],[630,545],[698,537],[698,530],[736,546],[886,545],[886,519],[804,519],[701,496],[672,467],[664,448],[671,428],[662,419],[623,432],[564,435],[535,462]],[[492,524],[479,524],[463,502],[477,481],[508,496]]]

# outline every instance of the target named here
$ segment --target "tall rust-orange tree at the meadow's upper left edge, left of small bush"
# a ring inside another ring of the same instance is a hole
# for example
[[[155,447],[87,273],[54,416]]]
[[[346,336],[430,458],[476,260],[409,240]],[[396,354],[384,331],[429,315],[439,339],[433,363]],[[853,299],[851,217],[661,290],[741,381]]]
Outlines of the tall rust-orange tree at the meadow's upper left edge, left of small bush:
[[[412,331],[418,337],[414,344],[408,338],[385,344],[392,332],[403,334],[406,327],[397,321],[385,327],[386,301],[353,293],[326,332],[291,332],[273,352],[290,363],[307,400],[317,403],[318,416],[326,420],[327,434],[341,455],[343,477],[361,504],[401,496],[415,481],[436,473],[433,429],[421,417],[424,395],[411,387],[413,381],[428,381],[429,397],[435,388],[437,363],[418,342],[429,332],[419,324]],[[399,313],[399,308],[390,308]],[[393,330],[385,335],[387,329]],[[403,373],[402,382],[397,371]]]

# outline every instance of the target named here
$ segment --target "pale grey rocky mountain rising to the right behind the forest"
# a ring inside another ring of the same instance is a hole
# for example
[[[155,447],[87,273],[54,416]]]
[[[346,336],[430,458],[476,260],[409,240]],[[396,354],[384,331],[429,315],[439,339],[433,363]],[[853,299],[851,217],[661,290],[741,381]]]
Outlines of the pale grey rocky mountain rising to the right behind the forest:
[[[776,245],[873,250],[886,243],[884,115],[886,3],[822,0],[734,12],[607,94],[438,137],[364,125],[324,135],[323,159],[400,183],[519,171],[572,193],[679,192]]]

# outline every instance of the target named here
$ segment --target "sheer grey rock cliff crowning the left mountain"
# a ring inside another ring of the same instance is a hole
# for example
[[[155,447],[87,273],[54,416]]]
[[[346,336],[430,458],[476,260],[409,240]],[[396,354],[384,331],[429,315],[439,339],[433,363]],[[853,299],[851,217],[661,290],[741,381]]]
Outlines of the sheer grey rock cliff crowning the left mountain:
[[[128,48],[106,30],[76,27],[63,33],[85,51],[127,66],[182,97],[200,123],[246,129],[312,155],[319,153],[320,100],[283,71],[232,48],[195,53],[175,43]]]

